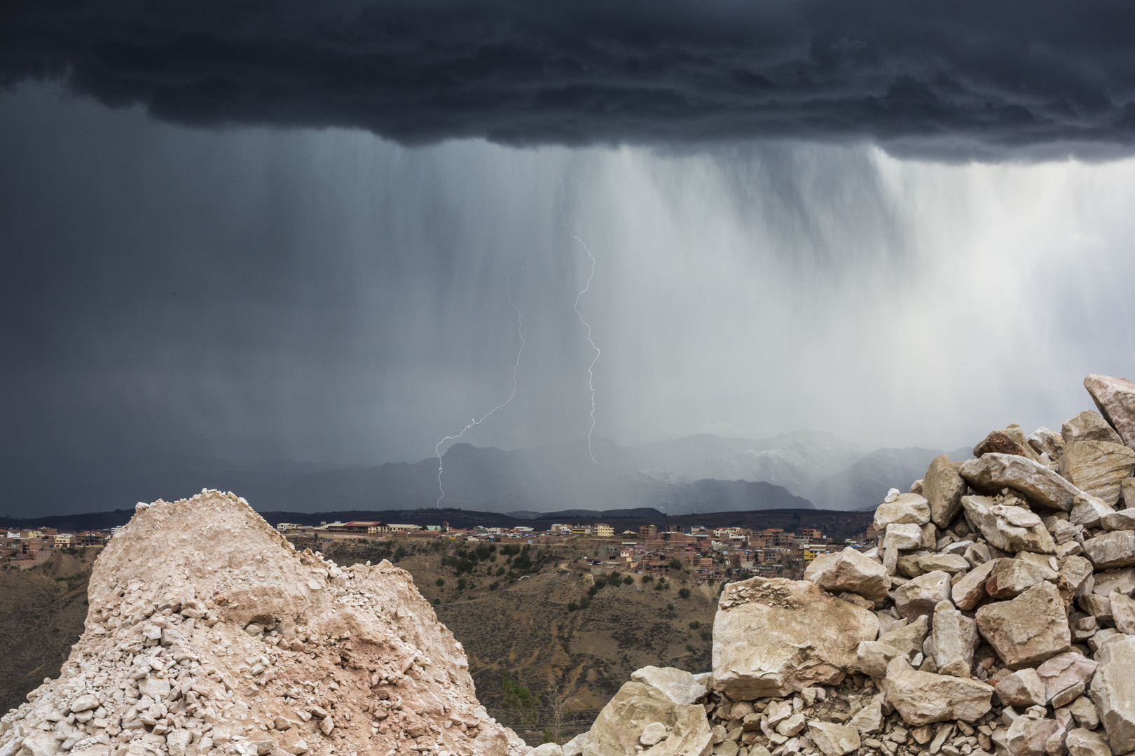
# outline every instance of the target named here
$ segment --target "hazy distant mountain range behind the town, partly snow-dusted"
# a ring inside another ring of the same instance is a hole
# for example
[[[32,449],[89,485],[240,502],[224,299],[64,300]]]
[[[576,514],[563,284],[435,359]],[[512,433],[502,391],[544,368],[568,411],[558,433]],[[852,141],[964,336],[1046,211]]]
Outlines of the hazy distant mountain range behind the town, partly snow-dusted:
[[[699,434],[629,448],[596,439],[592,445],[598,461],[585,442],[512,451],[454,444],[443,458],[440,504],[564,517],[574,510],[644,508],[671,516],[813,507],[848,511],[877,504],[891,486],[906,490],[942,453],[917,448],[865,453],[813,431],[763,440]],[[949,453],[969,457],[968,449]],[[6,481],[0,515],[15,517],[120,509],[202,487],[234,491],[258,510],[299,512],[417,510],[436,507],[439,498],[436,458],[376,467],[190,457],[129,464],[5,459],[0,474]]]

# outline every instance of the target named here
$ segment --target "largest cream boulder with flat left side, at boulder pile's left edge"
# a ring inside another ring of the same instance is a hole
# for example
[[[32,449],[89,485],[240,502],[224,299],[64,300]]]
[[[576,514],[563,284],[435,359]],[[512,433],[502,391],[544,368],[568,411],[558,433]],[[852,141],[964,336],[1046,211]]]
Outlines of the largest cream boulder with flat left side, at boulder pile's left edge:
[[[839,685],[878,618],[807,580],[750,578],[725,586],[713,629],[714,688],[733,700]]]

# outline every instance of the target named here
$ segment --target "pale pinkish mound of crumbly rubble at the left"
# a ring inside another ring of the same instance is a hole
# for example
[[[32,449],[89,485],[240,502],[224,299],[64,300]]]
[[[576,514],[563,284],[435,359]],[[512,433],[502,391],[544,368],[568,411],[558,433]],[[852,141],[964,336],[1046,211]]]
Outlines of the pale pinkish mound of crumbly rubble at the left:
[[[0,756],[520,756],[410,574],[295,549],[243,500],[138,504]]]

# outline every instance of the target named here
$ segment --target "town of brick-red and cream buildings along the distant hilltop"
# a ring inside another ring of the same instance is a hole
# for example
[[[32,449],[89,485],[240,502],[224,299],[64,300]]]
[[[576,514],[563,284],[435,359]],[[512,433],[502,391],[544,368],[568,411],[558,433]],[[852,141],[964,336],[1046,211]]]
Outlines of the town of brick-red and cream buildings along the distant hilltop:
[[[463,542],[505,542],[520,540],[529,544],[585,544],[594,557],[579,560],[579,567],[595,574],[623,572],[665,578],[672,571],[688,571],[700,583],[747,575],[762,577],[799,576],[821,554],[850,545],[871,547],[873,534],[833,542],[815,528],[799,533],[782,528],[753,530],[741,527],[706,528],[697,525],[672,525],[659,530],[642,525],[637,530],[615,532],[605,523],[556,523],[538,529],[529,526],[451,528],[442,525],[396,525],[377,520],[321,523],[319,526],[280,523],[281,533],[313,535],[320,541],[335,538],[389,537],[403,535],[426,540]]]

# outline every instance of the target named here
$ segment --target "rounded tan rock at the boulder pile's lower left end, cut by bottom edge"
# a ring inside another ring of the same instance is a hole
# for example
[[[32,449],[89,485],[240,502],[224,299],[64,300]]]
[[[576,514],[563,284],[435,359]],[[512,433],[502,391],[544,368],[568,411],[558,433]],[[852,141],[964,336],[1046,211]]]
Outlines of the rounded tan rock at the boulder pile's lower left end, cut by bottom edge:
[[[661,723],[669,736],[650,748],[651,756],[708,756],[713,734],[701,706],[675,704],[642,682],[624,682],[603,707],[588,731],[588,756],[625,756],[636,753],[647,727]]]

